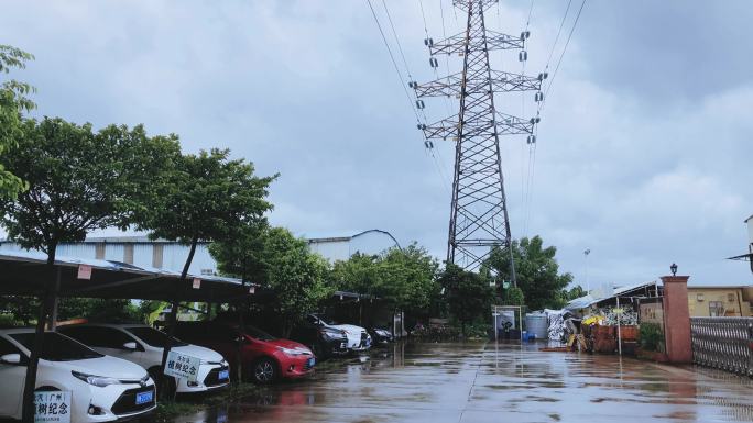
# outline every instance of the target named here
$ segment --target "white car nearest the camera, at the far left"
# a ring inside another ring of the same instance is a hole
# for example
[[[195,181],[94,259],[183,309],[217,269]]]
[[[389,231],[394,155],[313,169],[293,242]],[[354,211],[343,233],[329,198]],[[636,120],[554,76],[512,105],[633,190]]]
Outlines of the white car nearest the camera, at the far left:
[[[0,416],[21,419],[34,330],[0,331]],[[138,419],[156,408],[146,370],[109,357],[55,332],[44,334],[36,374],[37,391],[70,391],[72,422]]]

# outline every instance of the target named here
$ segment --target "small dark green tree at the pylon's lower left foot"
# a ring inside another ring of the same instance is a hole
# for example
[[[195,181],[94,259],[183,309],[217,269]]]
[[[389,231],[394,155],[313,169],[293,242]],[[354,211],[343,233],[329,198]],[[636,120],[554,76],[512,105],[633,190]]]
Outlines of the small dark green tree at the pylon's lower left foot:
[[[491,312],[494,292],[489,281],[479,274],[466,271],[454,264],[447,264],[439,276],[450,313],[460,321],[462,334],[466,325]]]

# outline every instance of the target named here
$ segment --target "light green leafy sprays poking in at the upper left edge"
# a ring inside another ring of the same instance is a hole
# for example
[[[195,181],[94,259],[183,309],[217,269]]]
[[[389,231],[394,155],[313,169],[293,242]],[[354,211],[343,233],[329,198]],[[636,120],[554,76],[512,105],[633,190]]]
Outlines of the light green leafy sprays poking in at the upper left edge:
[[[23,69],[33,58],[24,51],[0,45],[0,74],[9,74],[12,68]],[[35,107],[26,97],[33,91],[29,84],[0,80],[0,155],[14,148],[23,136],[22,115]],[[26,183],[21,178],[0,164],[0,198],[14,199],[25,188]]]

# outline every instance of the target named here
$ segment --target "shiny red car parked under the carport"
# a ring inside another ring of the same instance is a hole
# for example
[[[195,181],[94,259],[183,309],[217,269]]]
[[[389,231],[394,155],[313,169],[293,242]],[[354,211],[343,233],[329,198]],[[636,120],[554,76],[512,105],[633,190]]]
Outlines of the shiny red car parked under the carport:
[[[230,364],[232,377],[238,375],[240,357],[243,379],[259,383],[307,376],[316,364],[316,357],[305,345],[275,338],[250,325],[241,332],[229,323],[178,322],[175,336],[220,353]]]

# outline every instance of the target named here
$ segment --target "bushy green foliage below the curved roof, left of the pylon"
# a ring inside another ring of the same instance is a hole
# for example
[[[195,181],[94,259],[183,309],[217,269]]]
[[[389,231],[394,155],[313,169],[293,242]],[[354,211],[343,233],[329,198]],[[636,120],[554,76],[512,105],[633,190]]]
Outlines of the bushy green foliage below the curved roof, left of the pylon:
[[[373,294],[397,309],[423,314],[440,289],[437,268],[437,260],[414,243],[379,255],[356,253],[335,263],[330,279],[339,289]]]

